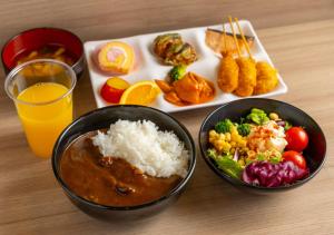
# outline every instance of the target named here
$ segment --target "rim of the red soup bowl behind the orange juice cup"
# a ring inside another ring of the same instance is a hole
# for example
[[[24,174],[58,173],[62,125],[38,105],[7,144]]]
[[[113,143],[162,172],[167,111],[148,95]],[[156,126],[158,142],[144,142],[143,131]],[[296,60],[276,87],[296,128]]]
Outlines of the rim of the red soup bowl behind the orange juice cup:
[[[14,69],[14,67],[13,67],[13,68],[9,68],[9,67],[6,65],[4,60],[3,60],[3,52],[4,52],[4,49],[7,48],[7,46],[9,45],[9,42],[12,41],[12,40],[14,40],[16,38],[18,38],[19,36],[21,36],[21,35],[23,35],[23,33],[27,33],[27,32],[29,32],[29,31],[33,31],[33,30],[37,30],[37,29],[52,29],[52,30],[56,30],[56,31],[65,31],[65,32],[70,33],[71,36],[73,36],[76,39],[79,40],[80,47],[81,47],[81,50],[82,50],[82,53],[81,53],[81,56],[78,58],[78,60],[77,60],[72,66],[70,66],[70,67],[75,70],[75,72],[77,74],[77,70],[78,70],[78,69],[76,69],[76,68],[84,61],[84,53],[85,53],[85,52],[84,52],[84,42],[82,42],[82,40],[81,40],[77,35],[75,35],[73,32],[71,32],[71,31],[69,31],[69,30],[67,30],[67,29],[61,29],[61,28],[56,28],[56,27],[36,27],[36,28],[32,28],[32,29],[27,29],[27,30],[24,30],[24,31],[21,31],[21,32],[17,33],[17,35],[10,37],[10,38],[6,41],[6,43],[3,45],[2,49],[1,49],[1,61],[2,61],[2,65],[3,65],[4,70],[7,70],[7,71],[9,72],[9,71],[11,71],[12,69]],[[84,68],[82,68],[81,70],[79,70],[78,74],[81,72],[82,70],[84,70]],[[8,72],[7,72],[7,74],[8,74]]]

